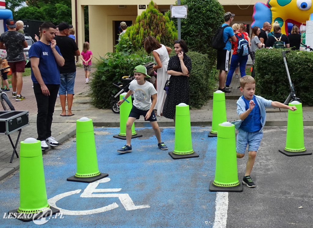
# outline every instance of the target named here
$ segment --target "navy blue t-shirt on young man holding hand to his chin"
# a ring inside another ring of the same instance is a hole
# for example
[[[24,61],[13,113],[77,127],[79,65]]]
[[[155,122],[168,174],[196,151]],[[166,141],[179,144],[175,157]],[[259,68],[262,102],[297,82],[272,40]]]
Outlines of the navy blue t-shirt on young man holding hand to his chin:
[[[55,46],[55,50],[61,55],[60,49],[58,46]],[[60,72],[58,64],[54,58],[54,54],[50,47],[50,44],[44,44],[41,41],[33,43],[28,51],[29,58],[37,57],[39,58],[38,68],[41,73],[41,77],[44,80],[44,84],[56,84],[59,85],[60,81]],[[38,83],[32,69],[32,80],[33,83]]]

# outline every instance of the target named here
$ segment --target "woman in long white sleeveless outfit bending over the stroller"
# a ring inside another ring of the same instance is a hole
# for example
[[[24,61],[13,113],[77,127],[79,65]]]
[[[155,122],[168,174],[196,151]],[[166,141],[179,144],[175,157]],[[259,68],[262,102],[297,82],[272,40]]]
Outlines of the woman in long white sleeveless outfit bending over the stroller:
[[[157,69],[157,99],[155,109],[157,109],[156,115],[161,116],[164,101],[166,98],[166,91],[163,88],[165,86],[166,80],[168,80],[170,77],[170,75],[167,74],[167,64],[169,60],[168,55],[169,53],[171,53],[172,48],[160,44],[159,41],[153,36],[148,36],[147,38],[145,38],[144,47],[148,54],[152,52],[153,59],[156,62],[156,65],[153,65],[153,69]]]

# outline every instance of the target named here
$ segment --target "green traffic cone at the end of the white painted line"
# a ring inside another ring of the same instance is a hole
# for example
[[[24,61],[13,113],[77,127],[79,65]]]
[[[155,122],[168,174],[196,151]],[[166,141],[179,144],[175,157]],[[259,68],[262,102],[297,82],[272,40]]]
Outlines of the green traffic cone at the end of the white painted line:
[[[215,178],[210,182],[209,191],[242,192],[242,190],[242,183],[238,180],[235,125],[223,122],[218,124]]]

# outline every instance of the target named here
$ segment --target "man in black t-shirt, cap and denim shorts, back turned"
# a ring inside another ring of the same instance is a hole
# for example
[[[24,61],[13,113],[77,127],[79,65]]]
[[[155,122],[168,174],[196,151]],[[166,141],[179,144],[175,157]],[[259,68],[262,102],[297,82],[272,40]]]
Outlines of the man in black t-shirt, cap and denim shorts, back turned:
[[[62,113],[60,114],[61,116],[74,115],[74,113],[72,113],[72,103],[76,76],[75,56],[80,56],[80,51],[74,39],[68,37],[70,28],[73,28],[73,25],[69,25],[66,22],[61,22],[59,24],[59,35],[54,38],[65,60],[64,66],[59,67],[61,78],[61,85],[59,89],[60,102],[62,106]],[[68,106],[67,113],[65,109],[66,92]]]

